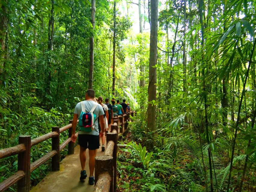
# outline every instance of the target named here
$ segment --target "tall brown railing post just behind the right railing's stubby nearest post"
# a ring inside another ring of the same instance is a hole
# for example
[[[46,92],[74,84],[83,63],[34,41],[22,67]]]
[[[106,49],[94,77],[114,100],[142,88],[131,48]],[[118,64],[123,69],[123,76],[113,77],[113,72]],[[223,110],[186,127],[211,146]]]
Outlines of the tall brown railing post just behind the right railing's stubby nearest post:
[[[113,149],[113,168],[114,168],[113,187],[114,187],[114,192],[116,192],[116,177],[117,177],[117,143],[118,143],[117,137],[118,137],[117,133],[107,133],[107,143],[111,140],[115,143],[114,149]]]

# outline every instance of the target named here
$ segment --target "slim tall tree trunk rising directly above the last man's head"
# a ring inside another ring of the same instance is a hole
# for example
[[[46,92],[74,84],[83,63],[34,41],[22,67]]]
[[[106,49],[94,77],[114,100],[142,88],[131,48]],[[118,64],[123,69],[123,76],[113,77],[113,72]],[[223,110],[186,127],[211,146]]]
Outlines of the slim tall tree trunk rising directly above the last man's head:
[[[95,26],[95,0],[92,0],[92,9],[91,9],[91,23],[92,23],[92,29],[94,29]],[[93,32],[92,32],[93,34]],[[89,84],[88,84],[88,88],[92,89],[92,81],[93,81],[93,64],[94,64],[94,58],[93,58],[93,48],[94,48],[94,39],[93,39],[93,35],[90,38],[90,67],[89,67]]]

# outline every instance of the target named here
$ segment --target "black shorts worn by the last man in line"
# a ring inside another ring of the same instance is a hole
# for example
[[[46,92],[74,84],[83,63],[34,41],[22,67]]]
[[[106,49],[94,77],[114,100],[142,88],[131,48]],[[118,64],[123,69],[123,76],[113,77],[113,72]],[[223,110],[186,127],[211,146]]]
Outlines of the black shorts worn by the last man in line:
[[[99,135],[78,134],[78,144],[89,150],[95,150],[100,148]]]

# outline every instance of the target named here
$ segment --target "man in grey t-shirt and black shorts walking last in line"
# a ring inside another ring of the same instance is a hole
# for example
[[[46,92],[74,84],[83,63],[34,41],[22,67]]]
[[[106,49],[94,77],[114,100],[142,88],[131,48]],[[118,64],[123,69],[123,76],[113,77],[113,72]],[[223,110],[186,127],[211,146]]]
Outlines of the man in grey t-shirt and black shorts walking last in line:
[[[97,153],[97,149],[99,149],[100,146],[100,141],[99,141],[99,135],[104,134],[104,129],[101,130],[101,133],[99,133],[98,130],[98,118],[100,119],[100,125],[101,127],[104,127],[104,111],[101,105],[98,103],[95,103],[93,99],[95,98],[95,91],[93,89],[88,89],[86,91],[85,95],[85,101],[82,101],[78,103],[75,107],[74,110],[74,117],[73,117],[73,122],[72,122],[72,136],[71,136],[71,141],[76,142],[77,137],[75,135],[76,132],[76,126],[77,126],[77,119],[80,116],[82,112],[82,107],[85,109],[83,112],[91,112],[93,108],[93,114],[95,114],[95,119],[94,119],[94,128],[90,132],[86,131],[81,131],[79,130],[78,132],[78,144],[80,145],[80,163],[81,163],[81,173],[80,173],[80,180],[84,180],[87,177],[86,170],[85,170],[85,161],[86,161],[86,149],[89,149],[89,170],[90,170],[90,175],[89,175],[89,184],[93,185],[94,184],[94,177],[93,177],[93,172],[94,172],[94,166],[95,166],[95,157]],[[83,106],[82,106],[83,105]],[[92,120],[91,120],[92,121]]]

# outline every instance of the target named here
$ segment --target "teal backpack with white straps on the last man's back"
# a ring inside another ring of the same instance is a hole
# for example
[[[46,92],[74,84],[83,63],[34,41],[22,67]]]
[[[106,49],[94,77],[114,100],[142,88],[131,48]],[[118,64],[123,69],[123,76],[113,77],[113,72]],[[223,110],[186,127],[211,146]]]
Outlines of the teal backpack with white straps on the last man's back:
[[[95,103],[92,109],[90,110],[90,112],[88,113],[86,112],[84,102],[81,101],[80,104],[81,104],[82,111],[80,113],[79,122],[78,122],[79,130],[85,131],[85,132],[91,132],[94,129],[94,123],[96,121],[96,115],[93,112],[96,109],[98,104]]]

